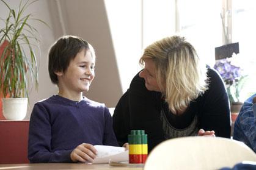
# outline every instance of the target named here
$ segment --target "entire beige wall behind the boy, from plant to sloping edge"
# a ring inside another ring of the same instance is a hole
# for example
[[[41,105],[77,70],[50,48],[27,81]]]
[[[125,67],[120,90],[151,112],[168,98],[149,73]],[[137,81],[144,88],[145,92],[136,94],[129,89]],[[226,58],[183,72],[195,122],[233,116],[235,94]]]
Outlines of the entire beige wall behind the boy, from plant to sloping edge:
[[[20,3],[16,0],[6,0],[6,2],[13,9],[16,9]],[[60,10],[58,10],[58,5]],[[48,23],[51,29],[42,24],[31,22],[42,35],[41,57],[38,58],[40,63],[39,89],[38,91],[32,90],[29,94],[30,104],[26,119],[29,119],[35,102],[57,93],[57,88],[51,83],[48,76],[48,50],[51,44],[63,34],[78,35],[89,41],[95,48],[97,55],[96,76],[90,91],[84,95],[95,101],[103,102],[108,107],[115,107],[123,94],[123,90],[104,1],[40,0],[31,5],[27,12],[34,13],[35,18],[40,18]],[[1,4],[0,17],[5,18],[6,15],[7,10]],[[60,15],[64,18],[64,23],[61,23]],[[2,26],[1,23],[0,27]]]

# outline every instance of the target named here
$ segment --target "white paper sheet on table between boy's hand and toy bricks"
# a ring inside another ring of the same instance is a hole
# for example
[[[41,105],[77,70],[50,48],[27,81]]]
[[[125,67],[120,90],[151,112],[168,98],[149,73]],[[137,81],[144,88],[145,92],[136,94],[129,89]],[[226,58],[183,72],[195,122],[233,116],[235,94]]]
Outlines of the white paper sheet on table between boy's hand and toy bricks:
[[[92,163],[108,163],[112,161],[129,161],[129,152],[125,147],[95,145],[98,154]]]

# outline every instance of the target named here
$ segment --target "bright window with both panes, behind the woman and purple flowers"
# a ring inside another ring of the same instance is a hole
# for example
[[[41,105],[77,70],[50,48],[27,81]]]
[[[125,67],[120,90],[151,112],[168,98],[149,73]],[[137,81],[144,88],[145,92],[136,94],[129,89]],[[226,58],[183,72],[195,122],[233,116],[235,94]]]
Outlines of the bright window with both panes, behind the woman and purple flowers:
[[[256,91],[256,1],[254,0],[176,0],[176,30],[193,44],[199,57],[213,66],[214,49],[225,44],[221,14],[228,32],[228,43],[239,42],[243,69],[249,78],[241,91],[241,101]],[[226,14],[226,15],[224,15]]]

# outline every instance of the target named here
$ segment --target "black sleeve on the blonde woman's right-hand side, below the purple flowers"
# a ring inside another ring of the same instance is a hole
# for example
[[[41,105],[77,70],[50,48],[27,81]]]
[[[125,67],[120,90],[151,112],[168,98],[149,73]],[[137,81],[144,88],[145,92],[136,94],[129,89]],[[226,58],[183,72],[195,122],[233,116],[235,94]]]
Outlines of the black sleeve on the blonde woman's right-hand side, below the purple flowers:
[[[216,136],[230,138],[229,97],[224,82],[214,69],[208,69],[208,90],[199,107],[199,128],[214,130]]]

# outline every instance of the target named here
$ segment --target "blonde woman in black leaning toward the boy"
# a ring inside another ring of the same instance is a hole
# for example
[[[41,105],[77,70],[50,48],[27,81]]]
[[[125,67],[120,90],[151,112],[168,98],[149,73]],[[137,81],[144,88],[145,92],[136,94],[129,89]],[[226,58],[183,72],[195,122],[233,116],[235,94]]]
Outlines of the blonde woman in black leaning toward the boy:
[[[148,134],[148,151],[169,138],[194,135],[230,138],[229,98],[216,71],[201,66],[185,38],[163,38],[140,59],[144,69],[115,107],[119,144],[130,130]]]

